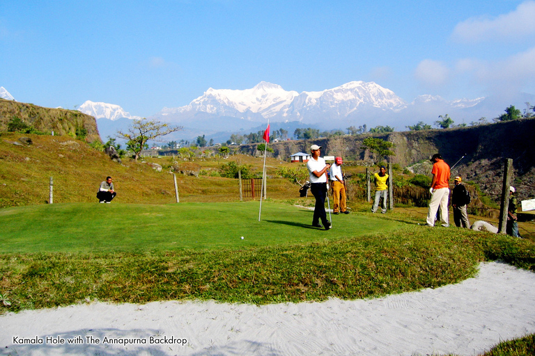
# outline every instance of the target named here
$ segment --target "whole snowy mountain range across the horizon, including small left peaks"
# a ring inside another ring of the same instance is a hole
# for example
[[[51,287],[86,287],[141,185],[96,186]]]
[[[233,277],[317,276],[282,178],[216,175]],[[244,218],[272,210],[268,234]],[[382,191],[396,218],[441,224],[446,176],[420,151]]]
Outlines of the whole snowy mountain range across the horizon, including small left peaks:
[[[0,87],[0,96],[13,96]],[[468,124],[479,118],[496,118],[511,104],[518,108],[535,102],[534,95],[522,94],[502,97],[479,97],[448,101],[439,96],[420,95],[407,103],[393,91],[374,82],[351,81],[336,88],[317,92],[284,90],[281,86],[261,81],[245,90],[209,88],[186,106],[165,107],[148,118],[178,124],[183,131],[173,138],[191,139],[228,137],[231,133],[247,134],[256,131],[270,120],[272,129],[284,127],[313,127],[322,130],[346,129],[350,126],[368,127],[389,125],[397,131],[419,121],[431,124],[439,115],[449,114],[456,124]],[[117,129],[125,129],[130,115],[121,106],[86,101],[79,111],[98,119],[101,138],[114,136]]]

